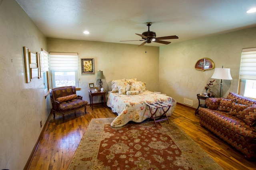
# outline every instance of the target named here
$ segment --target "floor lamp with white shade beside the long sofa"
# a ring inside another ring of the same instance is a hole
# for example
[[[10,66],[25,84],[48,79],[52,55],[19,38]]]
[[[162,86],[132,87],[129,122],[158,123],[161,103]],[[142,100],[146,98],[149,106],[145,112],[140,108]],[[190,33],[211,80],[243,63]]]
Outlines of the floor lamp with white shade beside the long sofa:
[[[220,98],[221,98],[221,86],[222,80],[232,80],[230,74],[230,68],[215,68],[214,73],[211,78],[220,79]]]

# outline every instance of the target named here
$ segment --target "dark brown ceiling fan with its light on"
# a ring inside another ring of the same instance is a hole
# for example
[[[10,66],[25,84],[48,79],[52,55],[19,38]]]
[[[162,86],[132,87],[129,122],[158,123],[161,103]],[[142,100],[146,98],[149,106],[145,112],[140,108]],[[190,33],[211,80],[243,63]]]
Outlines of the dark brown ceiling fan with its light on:
[[[170,44],[171,42],[169,41],[162,41],[162,39],[178,39],[179,37],[177,37],[176,35],[172,35],[172,36],[166,36],[166,37],[156,37],[156,33],[154,31],[150,31],[149,27],[150,25],[152,25],[152,22],[147,22],[146,25],[148,26],[148,31],[143,32],[142,34],[137,34],[140,37],[142,37],[142,39],[140,40],[128,40],[128,41],[144,41],[142,44],[140,44],[139,46],[142,46],[146,43],[151,43],[152,41],[155,43],[161,43],[161,44]]]

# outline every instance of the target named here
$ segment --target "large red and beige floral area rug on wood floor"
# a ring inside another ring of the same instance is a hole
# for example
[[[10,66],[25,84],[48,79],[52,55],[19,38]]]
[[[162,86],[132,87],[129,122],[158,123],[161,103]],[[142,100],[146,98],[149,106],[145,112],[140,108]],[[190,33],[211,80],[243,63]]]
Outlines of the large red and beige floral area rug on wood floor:
[[[92,119],[68,170],[222,170],[172,120],[128,123]]]

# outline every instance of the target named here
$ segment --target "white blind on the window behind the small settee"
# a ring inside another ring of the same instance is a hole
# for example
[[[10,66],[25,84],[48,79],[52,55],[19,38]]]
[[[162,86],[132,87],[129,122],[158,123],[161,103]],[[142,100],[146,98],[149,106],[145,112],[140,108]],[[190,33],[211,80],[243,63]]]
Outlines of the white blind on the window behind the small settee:
[[[78,53],[50,52],[51,70],[78,70]]]

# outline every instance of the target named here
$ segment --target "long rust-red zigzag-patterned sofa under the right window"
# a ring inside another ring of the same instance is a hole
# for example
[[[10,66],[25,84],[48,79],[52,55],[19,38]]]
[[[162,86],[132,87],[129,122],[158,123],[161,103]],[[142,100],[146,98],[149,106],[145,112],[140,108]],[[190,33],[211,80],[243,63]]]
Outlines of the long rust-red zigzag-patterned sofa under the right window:
[[[256,100],[230,92],[227,98],[207,98],[200,125],[236,148],[248,160],[256,158]]]

